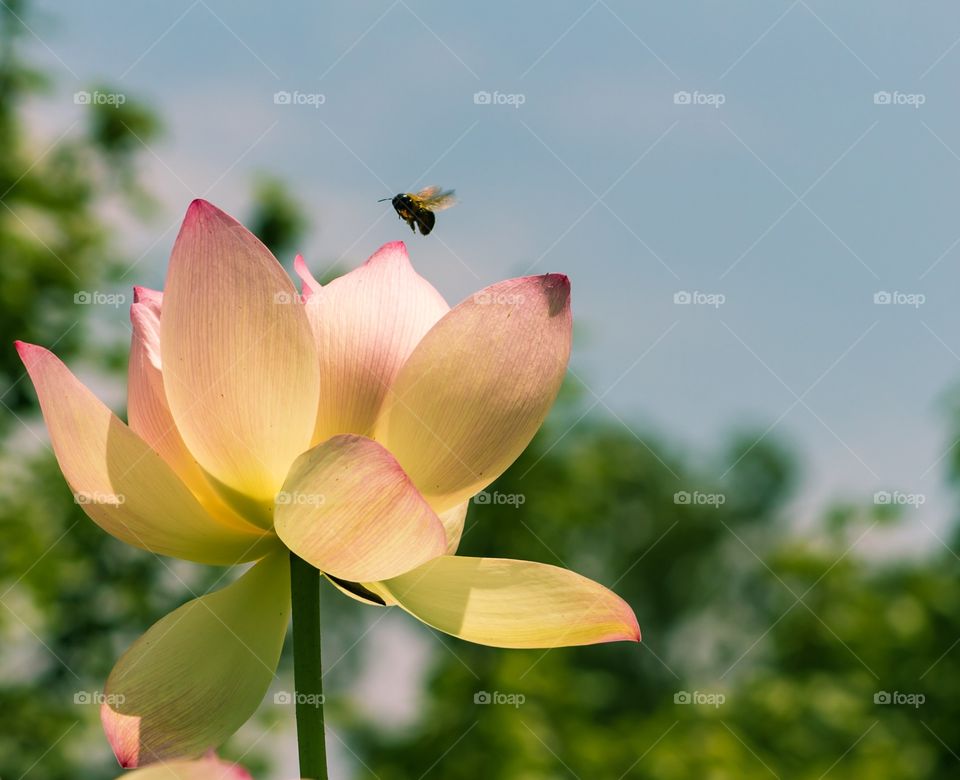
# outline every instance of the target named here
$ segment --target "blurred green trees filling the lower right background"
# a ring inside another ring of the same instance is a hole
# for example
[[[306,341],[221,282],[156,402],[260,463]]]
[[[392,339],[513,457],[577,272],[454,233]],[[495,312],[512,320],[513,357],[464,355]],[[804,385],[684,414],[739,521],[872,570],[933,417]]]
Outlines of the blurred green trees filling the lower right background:
[[[438,776],[450,780],[956,776],[960,682],[949,654],[937,661],[960,636],[956,558],[892,565],[848,551],[882,527],[856,510],[798,536],[786,520],[795,465],[766,442],[738,439],[700,473],[621,426],[582,424],[552,446],[556,435],[490,489],[522,494],[520,506],[471,507],[462,552],[595,577],[636,609],[644,642],[538,652],[444,640],[453,652],[437,653],[417,724],[356,734],[377,776],[419,776],[447,750]],[[741,456],[724,479],[707,476]],[[682,491],[725,501],[678,504]],[[479,691],[525,701],[475,704]],[[884,691],[926,701],[875,703]]]

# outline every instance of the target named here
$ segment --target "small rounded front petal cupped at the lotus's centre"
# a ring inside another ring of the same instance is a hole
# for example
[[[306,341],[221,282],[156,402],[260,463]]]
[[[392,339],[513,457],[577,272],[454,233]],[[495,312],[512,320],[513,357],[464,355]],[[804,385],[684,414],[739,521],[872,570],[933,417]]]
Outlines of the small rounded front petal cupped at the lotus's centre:
[[[293,464],[274,511],[277,535],[344,580],[393,577],[442,555],[443,525],[383,447],[334,436]]]

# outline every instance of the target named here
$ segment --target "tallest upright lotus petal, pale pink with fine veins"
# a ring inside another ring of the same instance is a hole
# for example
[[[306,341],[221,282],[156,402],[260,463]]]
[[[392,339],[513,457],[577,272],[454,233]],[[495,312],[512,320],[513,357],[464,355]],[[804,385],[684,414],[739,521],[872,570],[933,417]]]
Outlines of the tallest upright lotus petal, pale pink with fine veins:
[[[236,494],[269,507],[316,414],[316,347],[300,296],[232,217],[190,204],[164,288],[163,383],[187,447]]]

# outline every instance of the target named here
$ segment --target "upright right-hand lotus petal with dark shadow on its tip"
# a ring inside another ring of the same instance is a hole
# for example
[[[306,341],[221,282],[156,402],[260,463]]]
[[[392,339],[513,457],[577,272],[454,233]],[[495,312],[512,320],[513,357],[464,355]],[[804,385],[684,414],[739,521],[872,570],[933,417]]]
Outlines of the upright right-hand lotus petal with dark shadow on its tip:
[[[438,322],[400,370],[375,438],[442,512],[482,490],[533,438],[566,372],[570,283],[500,282]]]

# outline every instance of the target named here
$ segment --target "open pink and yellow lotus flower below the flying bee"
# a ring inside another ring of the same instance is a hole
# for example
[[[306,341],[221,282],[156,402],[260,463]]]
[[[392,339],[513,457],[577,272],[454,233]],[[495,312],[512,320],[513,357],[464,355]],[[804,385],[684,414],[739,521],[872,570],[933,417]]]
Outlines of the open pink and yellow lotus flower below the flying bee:
[[[455,555],[469,499],[540,427],[571,342],[565,276],[453,309],[387,244],[302,295],[237,221],[194,201],[161,294],[131,310],[128,424],[52,353],[18,343],[60,468],[104,530],[199,563],[255,562],[152,626],[101,712],[123,766],[193,757],[253,713],[290,615],[289,551],[360,600],[472,642],[639,641],[603,586]]]

